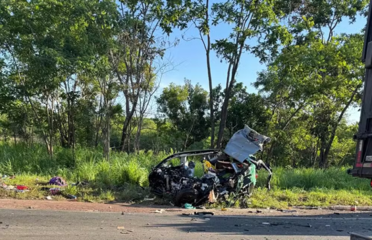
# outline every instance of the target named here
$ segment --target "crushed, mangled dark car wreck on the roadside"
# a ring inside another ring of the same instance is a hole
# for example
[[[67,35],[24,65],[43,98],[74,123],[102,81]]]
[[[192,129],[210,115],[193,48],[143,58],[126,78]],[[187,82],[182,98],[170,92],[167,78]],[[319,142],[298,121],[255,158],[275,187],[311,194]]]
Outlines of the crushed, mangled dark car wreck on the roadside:
[[[185,203],[201,206],[229,197],[245,200],[252,195],[257,170],[261,168],[268,172],[266,187],[270,189],[271,168],[254,156],[270,140],[245,126],[233,135],[223,151],[208,149],[175,153],[152,169],[150,190],[158,196],[169,195],[177,206]],[[202,164],[201,177],[195,176],[197,160]]]

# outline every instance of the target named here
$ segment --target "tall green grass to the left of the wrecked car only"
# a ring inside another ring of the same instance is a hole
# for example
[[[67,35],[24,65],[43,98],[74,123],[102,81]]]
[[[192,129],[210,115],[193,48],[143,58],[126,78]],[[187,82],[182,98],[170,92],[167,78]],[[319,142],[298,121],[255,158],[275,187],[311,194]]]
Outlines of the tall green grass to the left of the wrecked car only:
[[[57,148],[50,159],[43,146],[26,148],[1,144],[0,174],[59,175],[72,181],[93,181],[102,187],[125,183],[146,186],[149,171],[166,156],[166,153],[154,155],[143,151],[130,155],[112,152],[110,160],[105,160],[96,150]]]

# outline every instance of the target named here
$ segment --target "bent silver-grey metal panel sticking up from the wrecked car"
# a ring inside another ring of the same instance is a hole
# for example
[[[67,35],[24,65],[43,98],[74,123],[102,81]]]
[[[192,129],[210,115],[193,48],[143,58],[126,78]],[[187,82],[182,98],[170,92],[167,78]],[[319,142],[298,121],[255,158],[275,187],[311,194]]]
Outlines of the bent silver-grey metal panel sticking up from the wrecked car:
[[[270,140],[270,138],[257,133],[255,130],[245,125],[244,129],[236,132],[229,140],[224,153],[243,162],[249,155],[262,151],[263,144]]]

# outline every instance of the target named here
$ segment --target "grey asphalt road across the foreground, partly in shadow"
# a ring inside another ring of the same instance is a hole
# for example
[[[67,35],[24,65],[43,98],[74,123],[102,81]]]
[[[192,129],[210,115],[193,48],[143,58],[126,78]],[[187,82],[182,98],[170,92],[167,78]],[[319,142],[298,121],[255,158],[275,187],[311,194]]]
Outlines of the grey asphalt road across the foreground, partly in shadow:
[[[370,213],[196,217],[0,209],[0,240],[346,240],[350,232],[372,236],[371,222]]]

